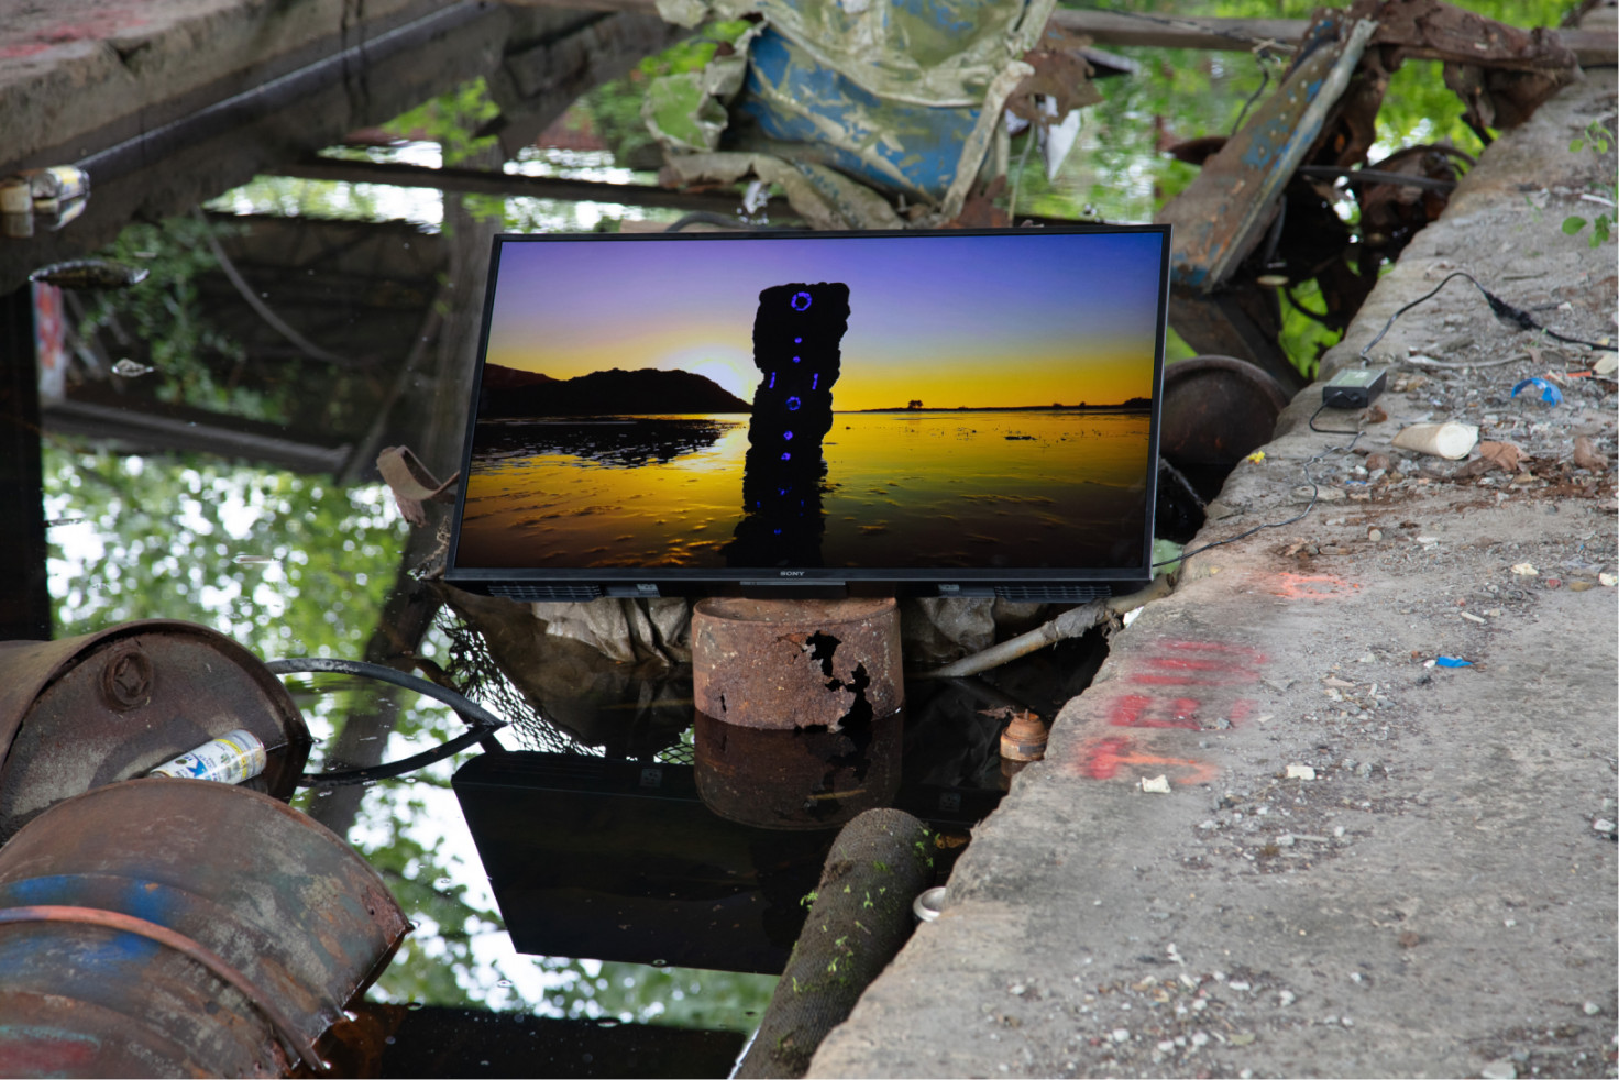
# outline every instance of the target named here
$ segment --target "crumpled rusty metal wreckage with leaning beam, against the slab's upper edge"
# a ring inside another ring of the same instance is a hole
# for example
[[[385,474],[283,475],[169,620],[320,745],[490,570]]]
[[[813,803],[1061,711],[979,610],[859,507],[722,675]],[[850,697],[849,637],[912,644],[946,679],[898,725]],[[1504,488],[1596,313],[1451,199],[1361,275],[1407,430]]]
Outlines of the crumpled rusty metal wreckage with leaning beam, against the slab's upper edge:
[[[1242,131],[1171,151],[1203,165],[1158,215],[1177,227],[1171,317],[1193,348],[1256,363],[1297,389],[1276,345],[1271,288],[1342,330],[1378,267],[1443,212],[1465,155],[1410,147],[1366,167],[1389,73],[1409,58],[1444,63],[1465,121],[1486,142],[1486,128],[1522,123],[1577,71],[1556,34],[1441,0],[1357,0],[1318,13],[1281,87]],[[1358,241],[1332,209],[1341,180],[1360,201]],[[1321,309],[1294,298],[1290,285],[1307,280],[1318,283]]]

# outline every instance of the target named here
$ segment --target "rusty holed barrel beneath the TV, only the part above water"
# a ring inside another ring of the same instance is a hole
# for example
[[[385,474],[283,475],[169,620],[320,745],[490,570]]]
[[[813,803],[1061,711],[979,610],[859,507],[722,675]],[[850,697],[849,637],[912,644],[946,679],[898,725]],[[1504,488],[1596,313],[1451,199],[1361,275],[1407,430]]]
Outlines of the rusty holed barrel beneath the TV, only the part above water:
[[[905,703],[900,617],[892,597],[711,597],[691,614],[698,712],[767,729],[886,717]]]

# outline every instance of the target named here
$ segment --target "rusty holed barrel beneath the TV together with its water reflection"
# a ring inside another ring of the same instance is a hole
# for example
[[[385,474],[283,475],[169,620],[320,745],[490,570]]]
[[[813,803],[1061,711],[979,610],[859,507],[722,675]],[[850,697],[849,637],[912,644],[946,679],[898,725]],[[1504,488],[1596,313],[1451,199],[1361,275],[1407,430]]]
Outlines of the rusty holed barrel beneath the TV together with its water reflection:
[[[691,617],[698,795],[722,818],[824,829],[894,800],[905,675],[892,599],[706,599]]]

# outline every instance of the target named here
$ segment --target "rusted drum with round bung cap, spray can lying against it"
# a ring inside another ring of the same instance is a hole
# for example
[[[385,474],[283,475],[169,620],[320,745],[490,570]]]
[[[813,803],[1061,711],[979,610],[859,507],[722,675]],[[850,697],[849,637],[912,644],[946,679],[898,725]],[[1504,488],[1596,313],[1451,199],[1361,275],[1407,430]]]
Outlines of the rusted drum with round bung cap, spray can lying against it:
[[[60,641],[0,641],[0,840],[45,806],[235,729],[269,751],[249,787],[288,798],[309,729],[287,688],[230,638],[130,622]]]

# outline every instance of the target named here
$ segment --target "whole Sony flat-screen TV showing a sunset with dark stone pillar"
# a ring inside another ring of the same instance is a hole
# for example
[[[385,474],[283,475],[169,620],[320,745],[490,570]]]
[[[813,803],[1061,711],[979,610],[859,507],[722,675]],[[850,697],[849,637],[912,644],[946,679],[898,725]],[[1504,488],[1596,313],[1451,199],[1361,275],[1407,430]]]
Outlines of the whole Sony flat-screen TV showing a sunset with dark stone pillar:
[[[1151,576],[1167,227],[495,241],[445,578],[1090,599]]]

